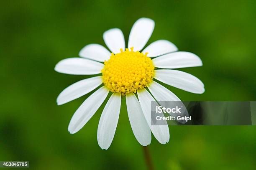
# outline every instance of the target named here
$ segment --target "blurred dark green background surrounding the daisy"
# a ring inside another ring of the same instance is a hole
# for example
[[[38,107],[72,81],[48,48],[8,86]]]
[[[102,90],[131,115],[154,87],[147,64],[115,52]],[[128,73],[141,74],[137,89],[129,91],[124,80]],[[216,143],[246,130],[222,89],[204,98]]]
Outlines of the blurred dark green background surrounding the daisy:
[[[103,106],[72,135],[69,121],[90,94],[62,106],[56,97],[88,76],[59,74],[55,64],[77,57],[89,43],[105,46],[102,33],[120,28],[126,43],[133,23],[155,20],[149,42],[172,41],[197,54],[202,67],[179,69],[200,78],[204,94],[171,86],[180,99],[256,100],[256,1],[1,0],[0,161],[30,161],[30,168],[146,169],[122,104],[112,145],[101,150],[97,125]],[[152,137],[156,169],[255,170],[255,126],[170,126],[170,142]]]

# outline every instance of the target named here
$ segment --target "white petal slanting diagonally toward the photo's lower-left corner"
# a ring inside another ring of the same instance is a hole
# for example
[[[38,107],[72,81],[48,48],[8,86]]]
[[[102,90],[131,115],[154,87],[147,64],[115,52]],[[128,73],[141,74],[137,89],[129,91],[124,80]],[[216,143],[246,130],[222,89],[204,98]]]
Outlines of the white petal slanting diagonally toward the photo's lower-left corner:
[[[70,120],[68,130],[71,134],[78,132],[91,119],[106,99],[108,92],[109,90],[102,86],[81,104]]]

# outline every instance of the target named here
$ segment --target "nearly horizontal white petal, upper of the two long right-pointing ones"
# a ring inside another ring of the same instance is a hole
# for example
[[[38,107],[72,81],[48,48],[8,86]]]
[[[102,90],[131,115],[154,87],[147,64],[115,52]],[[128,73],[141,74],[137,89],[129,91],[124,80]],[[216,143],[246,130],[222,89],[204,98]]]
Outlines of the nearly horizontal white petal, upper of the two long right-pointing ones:
[[[156,57],[152,61],[155,67],[163,69],[202,66],[202,61],[197,55],[184,51]]]

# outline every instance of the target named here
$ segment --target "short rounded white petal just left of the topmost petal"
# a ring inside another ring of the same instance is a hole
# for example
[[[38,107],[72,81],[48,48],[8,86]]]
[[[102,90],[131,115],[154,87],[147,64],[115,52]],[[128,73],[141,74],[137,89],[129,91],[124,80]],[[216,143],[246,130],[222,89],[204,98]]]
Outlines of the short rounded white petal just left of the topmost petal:
[[[113,53],[120,53],[120,48],[125,50],[125,40],[123,32],[118,28],[107,30],[103,34],[103,39]]]

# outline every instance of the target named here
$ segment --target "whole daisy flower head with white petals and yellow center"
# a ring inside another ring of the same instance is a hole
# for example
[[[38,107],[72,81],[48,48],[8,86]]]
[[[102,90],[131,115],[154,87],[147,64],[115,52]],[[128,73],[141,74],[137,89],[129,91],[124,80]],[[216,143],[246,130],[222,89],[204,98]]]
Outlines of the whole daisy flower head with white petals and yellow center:
[[[177,52],[177,47],[167,40],[155,41],[143,49],[154,25],[154,21],[149,18],[138,19],[131,29],[128,48],[125,48],[120,29],[107,30],[103,39],[112,53],[99,44],[89,44],[79,52],[81,58],[67,58],[56,64],[55,70],[64,74],[101,74],[68,86],[57,97],[58,105],[77,99],[104,84],[74,113],[68,126],[71,134],[78,132],[90,120],[111,91],[112,95],[103,109],[97,130],[97,141],[102,149],[108,149],[113,141],[121,97],[126,99],[131,128],[141,145],[151,143],[151,132],[161,144],[169,142],[167,122],[161,126],[151,125],[151,101],[180,99],[154,79],[202,94],[205,91],[202,81],[191,74],[171,70],[202,66],[202,61],[193,53]]]

